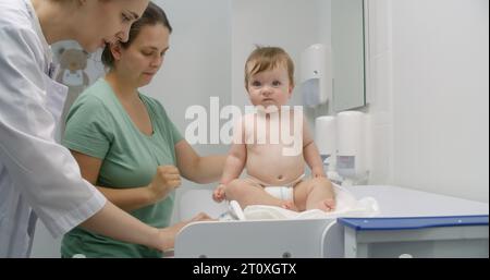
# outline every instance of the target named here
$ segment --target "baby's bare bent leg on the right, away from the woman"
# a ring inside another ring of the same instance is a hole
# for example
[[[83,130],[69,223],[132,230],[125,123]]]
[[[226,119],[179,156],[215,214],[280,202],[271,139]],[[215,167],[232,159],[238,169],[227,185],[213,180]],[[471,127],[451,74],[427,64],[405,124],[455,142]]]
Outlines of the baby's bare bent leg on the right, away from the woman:
[[[295,186],[294,199],[299,210],[335,209],[335,194],[332,183],[327,178],[314,178],[298,183]]]

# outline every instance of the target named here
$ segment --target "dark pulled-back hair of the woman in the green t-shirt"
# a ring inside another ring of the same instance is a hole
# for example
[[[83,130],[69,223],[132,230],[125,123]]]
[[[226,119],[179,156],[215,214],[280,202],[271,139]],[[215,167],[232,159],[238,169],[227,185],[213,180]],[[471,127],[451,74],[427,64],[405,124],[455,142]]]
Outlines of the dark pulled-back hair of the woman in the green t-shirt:
[[[133,23],[130,29],[130,37],[127,41],[121,41],[120,45],[123,49],[127,49],[131,44],[134,41],[134,39],[139,35],[143,27],[145,26],[155,26],[157,24],[161,24],[164,27],[169,29],[170,33],[172,33],[172,26],[170,25],[169,19],[167,17],[166,12],[155,4],[154,2],[149,2],[148,8],[146,8],[145,12],[143,13],[142,17]],[[114,57],[112,57],[112,52],[110,49],[109,44],[106,45],[106,48],[103,49],[102,57],[101,57],[102,63],[105,66],[109,69],[114,68]]]

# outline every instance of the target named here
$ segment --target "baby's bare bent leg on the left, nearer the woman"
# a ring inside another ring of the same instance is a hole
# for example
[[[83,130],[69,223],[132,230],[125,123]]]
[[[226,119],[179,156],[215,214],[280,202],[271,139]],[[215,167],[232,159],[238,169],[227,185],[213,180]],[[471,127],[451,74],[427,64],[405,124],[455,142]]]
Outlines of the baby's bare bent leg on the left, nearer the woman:
[[[242,208],[248,205],[271,205],[296,210],[293,202],[275,198],[267,193],[259,183],[247,179],[235,179],[231,181],[226,184],[224,193],[226,199],[236,200]]]

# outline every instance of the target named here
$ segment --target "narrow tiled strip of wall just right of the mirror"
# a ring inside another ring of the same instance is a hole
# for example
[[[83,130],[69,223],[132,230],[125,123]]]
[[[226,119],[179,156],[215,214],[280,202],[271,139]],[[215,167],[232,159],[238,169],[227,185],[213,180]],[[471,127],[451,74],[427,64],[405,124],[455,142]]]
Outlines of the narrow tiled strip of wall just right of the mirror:
[[[367,4],[367,102],[371,184],[392,182],[393,106],[391,83],[390,0]]]

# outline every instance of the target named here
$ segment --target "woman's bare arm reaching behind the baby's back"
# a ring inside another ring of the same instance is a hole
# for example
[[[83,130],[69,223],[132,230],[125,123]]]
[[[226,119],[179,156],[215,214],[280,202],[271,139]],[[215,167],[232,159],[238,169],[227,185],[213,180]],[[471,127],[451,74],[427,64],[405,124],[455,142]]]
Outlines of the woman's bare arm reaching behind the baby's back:
[[[185,139],[175,144],[175,156],[182,176],[199,184],[218,181],[226,158],[225,156],[201,157]]]

